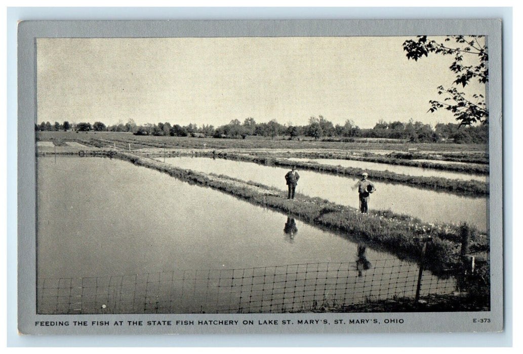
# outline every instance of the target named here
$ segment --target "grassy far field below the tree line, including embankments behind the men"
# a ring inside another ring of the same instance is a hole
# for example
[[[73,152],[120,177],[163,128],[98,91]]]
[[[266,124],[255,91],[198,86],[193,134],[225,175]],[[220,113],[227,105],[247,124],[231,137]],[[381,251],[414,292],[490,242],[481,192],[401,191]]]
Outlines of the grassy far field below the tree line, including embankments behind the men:
[[[52,141],[60,151],[71,151],[71,146],[64,147],[67,141],[82,144],[86,148],[113,148],[147,154],[191,154],[222,157],[278,166],[291,167],[293,164],[304,169],[318,170],[324,173],[357,176],[362,172],[358,168],[340,169],[336,166],[325,167],[310,163],[287,161],[290,157],[352,159],[379,162],[392,166],[403,165],[434,170],[459,171],[464,173],[488,174],[488,155],[486,146],[481,144],[406,144],[406,143],[369,143],[367,139],[354,143],[284,140],[250,137],[246,139],[215,139],[195,137],[155,137],[134,136],[127,133],[106,132],[37,132],[37,141]],[[46,150],[42,150],[46,151]],[[54,151],[48,149],[47,151]],[[212,155],[209,155],[212,154]],[[251,155],[251,156],[248,156]],[[427,159],[430,162],[415,162],[413,159]],[[442,163],[459,161],[459,164]],[[468,195],[487,195],[485,182],[454,181],[442,178],[424,178],[408,176],[390,171],[368,171],[374,179],[406,185],[444,190]]]

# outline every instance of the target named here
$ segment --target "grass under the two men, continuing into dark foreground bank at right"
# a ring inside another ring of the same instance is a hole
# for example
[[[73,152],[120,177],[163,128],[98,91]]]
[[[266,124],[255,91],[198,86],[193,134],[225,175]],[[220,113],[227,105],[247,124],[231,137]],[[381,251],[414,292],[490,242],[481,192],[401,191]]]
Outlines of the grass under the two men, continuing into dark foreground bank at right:
[[[76,155],[64,152],[65,155]],[[488,306],[490,294],[490,272],[488,253],[490,240],[484,233],[467,226],[448,223],[426,223],[408,215],[395,214],[390,210],[371,210],[360,214],[355,208],[341,206],[321,198],[298,194],[288,200],[286,193],[259,183],[245,182],[226,175],[206,174],[174,167],[167,163],[140,157],[125,151],[85,151],[85,156],[118,158],[137,166],[167,173],[181,181],[233,195],[255,205],[282,211],[298,217],[306,223],[342,234],[353,241],[364,241],[376,249],[388,251],[401,259],[420,261],[423,247],[421,237],[430,237],[424,253],[424,267],[440,277],[463,273],[461,257],[461,235],[470,232],[469,253],[482,252],[483,259],[476,261],[476,272],[469,276],[467,297],[433,296],[423,298],[422,303],[413,303],[411,298],[367,301],[356,305],[331,304],[319,306],[321,312],[408,312],[408,311],[478,311]],[[474,296],[477,294],[477,296]],[[430,301],[429,301],[430,300]],[[321,307],[321,309],[320,309]],[[475,309],[475,310],[474,310]],[[308,311],[310,312],[310,311]]]

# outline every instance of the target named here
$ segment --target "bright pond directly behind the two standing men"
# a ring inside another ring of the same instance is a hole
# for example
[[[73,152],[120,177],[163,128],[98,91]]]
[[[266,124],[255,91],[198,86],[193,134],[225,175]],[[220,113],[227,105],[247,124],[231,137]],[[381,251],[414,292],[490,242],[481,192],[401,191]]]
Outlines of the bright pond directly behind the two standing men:
[[[163,158],[158,158],[158,161],[163,161]],[[166,158],[165,162],[184,169],[225,174],[287,191],[283,176],[288,169],[280,167],[204,157]],[[296,188],[297,193],[321,197],[340,205],[358,207],[358,193],[351,189],[357,183],[356,179],[313,171],[298,172],[300,180]],[[372,176],[369,176],[369,179],[372,180]],[[485,197],[459,196],[385,182],[373,183],[377,191],[370,196],[369,209],[390,209],[395,213],[412,215],[427,222],[466,221],[480,230],[486,230]]]

